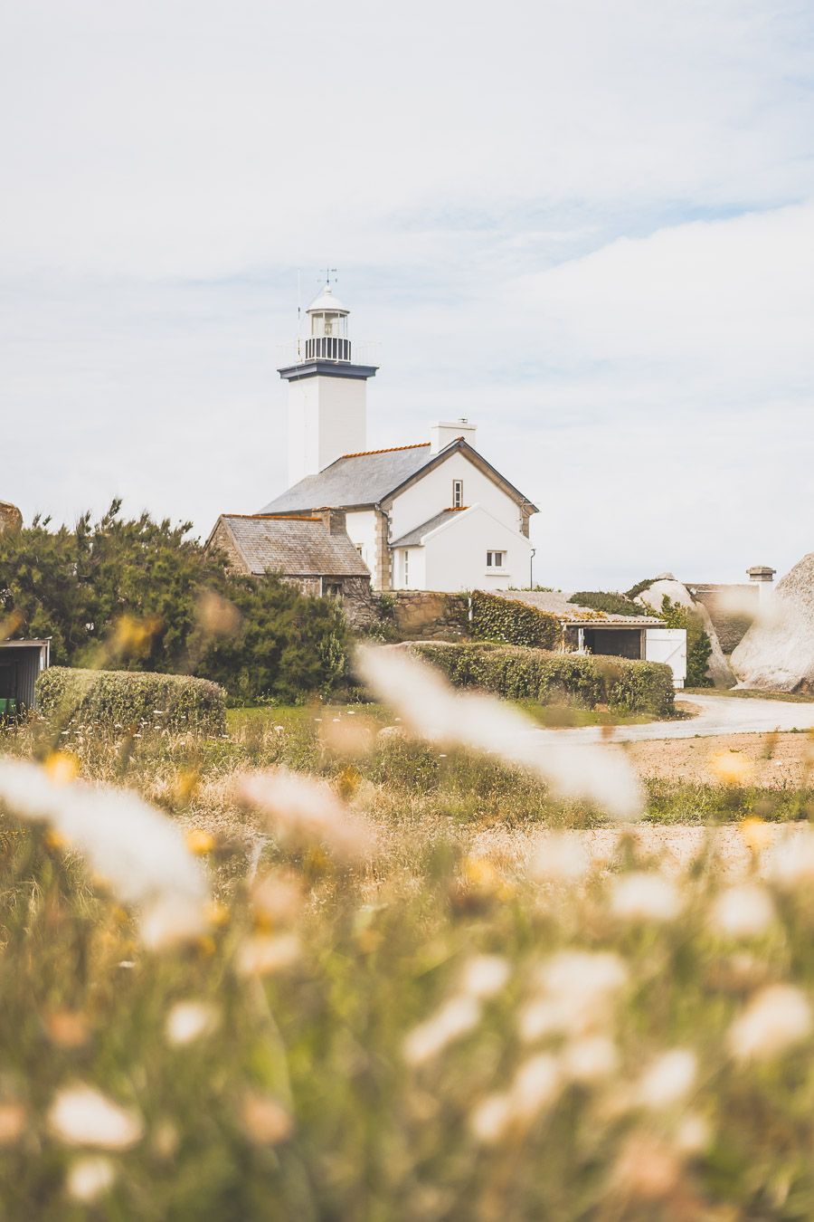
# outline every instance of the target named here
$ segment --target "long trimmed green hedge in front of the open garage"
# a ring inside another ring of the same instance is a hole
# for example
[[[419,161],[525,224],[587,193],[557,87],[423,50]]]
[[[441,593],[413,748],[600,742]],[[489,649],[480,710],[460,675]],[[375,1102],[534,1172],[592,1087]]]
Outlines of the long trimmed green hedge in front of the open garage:
[[[672,672],[661,662],[550,654],[516,645],[431,642],[406,648],[437,666],[456,687],[482,688],[509,700],[567,701],[587,709],[608,704],[659,717],[675,711]]]

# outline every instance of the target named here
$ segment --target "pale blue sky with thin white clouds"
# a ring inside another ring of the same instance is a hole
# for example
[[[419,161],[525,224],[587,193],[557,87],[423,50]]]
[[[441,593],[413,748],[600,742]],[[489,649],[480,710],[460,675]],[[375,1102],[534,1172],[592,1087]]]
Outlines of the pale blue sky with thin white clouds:
[[[808,0],[0,0],[0,499],[259,510],[326,266],[541,584],[814,550]]]

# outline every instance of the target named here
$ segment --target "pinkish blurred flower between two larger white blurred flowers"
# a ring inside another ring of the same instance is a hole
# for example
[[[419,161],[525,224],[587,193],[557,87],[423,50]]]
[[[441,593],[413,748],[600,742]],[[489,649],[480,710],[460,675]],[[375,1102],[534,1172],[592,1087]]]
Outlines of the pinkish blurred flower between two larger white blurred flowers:
[[[265,814],[286,844],[316,842],[347,860],[364,860],[372,851],[372,827],[351,814],[323,781],[279,767],[245,772],[236,787],[238,799]]]

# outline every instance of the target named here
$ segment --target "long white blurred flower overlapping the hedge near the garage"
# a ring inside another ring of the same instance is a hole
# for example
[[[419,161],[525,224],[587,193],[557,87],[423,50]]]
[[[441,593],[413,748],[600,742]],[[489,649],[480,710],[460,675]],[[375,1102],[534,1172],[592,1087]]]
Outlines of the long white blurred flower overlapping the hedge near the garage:
[[[641,782],[614,748],[552,741],[505,701],[454,692],[400,648],[362,645],[356,666],[371,690],[431,742],[493,752],[543,777],[560,798],[585,798],[621,819],[641,815]]]

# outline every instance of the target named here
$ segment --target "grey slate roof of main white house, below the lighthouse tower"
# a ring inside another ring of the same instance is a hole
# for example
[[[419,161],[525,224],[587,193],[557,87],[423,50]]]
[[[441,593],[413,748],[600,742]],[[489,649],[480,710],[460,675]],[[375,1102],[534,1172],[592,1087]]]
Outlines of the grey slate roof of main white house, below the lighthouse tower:
[[[397,450],[345,455],[317,475],[300,479],[299,484],[275,497],[260,512],[290,513],[323,505],[336,508],[377,505],[394,488],[421,470],[432,457],[428,441],[416,446],[399,446]]]

